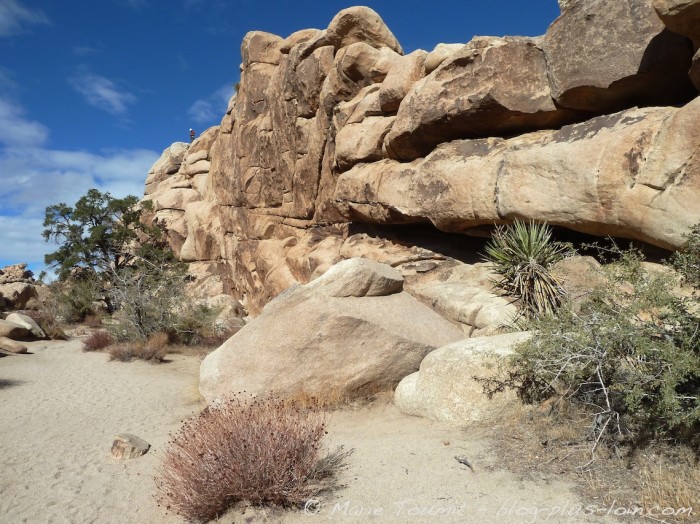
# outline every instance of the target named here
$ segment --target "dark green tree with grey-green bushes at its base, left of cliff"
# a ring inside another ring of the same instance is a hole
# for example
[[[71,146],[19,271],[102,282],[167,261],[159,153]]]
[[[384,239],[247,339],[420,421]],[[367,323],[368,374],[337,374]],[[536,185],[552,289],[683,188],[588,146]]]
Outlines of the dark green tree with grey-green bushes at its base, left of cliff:
[[[183,300],[186,264],[161,225],[146,224],[149,209],[136,197],[91,189],[74,207],[46,210],[44,238],[59,244],[45,257],[58,277],[54,317],[104,328],[85,348],[106,349],[114,360],[160,362],[169,345],[213,347],[231,335],[215,325],[216,308]]]

